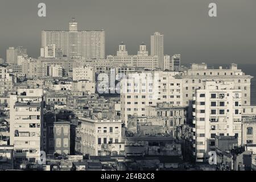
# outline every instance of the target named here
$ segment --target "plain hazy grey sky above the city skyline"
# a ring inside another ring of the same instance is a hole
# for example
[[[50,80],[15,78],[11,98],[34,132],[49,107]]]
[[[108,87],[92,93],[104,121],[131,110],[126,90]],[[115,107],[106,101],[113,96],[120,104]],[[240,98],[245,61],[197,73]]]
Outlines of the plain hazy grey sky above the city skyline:
[[[46,18],[37,15],[40,2]],[[217,18],[208,16],[210,2]],[[130,54],[141,42],[150,51],[150,35],[159,31],[164,54],[181,53],[184,64],[256,62],[256,0],[1,0],[0,57],[16,46],[38,57],[41,31],[67,30],[72,17],[79,30],[106,31],[106,55],[121,41]]]

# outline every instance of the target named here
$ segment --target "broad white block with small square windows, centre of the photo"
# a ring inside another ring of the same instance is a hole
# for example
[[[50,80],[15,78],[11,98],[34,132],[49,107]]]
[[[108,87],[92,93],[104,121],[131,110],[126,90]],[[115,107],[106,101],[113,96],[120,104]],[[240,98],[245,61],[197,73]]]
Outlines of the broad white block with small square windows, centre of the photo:
[[[121,118],[126,126],[131,115],[146,115],[146,106],[159,102],[183,105],[182,80],[175,75],[176,72],[138,72],[121,81]]]

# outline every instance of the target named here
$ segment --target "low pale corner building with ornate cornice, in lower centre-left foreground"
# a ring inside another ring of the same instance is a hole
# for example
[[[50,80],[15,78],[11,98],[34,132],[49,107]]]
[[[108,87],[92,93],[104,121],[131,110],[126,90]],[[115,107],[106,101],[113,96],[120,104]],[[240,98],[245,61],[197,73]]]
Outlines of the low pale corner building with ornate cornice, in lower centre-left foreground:
[[[122,141],[121,119],[98,119],[93,115],[92,118],[79,118],[79,122],[81,126],[76,135],[76,152],[80,154],[101,156],[105,144]],[[122,148],[123,145],[120,145]]]

